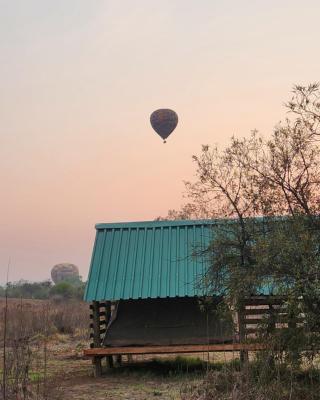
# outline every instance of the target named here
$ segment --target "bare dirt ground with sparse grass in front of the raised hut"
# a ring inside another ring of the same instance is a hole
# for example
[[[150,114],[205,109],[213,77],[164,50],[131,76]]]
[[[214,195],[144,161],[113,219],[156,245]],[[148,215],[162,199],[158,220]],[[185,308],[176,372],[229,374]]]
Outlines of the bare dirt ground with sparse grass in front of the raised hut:
[[[51,348],[49,370],[60,400],[178,400],[190,385],[201,381],[206,369],[200,360],[205,354],[189,359],[137,356],[132,363],[124,358],[121,366],[94,378],[91,360],[82,356],[81,347],[70,347],[68,341]]]

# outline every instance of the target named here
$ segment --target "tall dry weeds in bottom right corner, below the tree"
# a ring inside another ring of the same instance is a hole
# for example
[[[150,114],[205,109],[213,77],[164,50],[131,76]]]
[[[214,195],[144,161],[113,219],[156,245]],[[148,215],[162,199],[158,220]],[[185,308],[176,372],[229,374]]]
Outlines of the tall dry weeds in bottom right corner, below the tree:
[[[244,369],[210,370],[200,382],[184,385],[182,400],[318,400],[320,374],[314,366],[293,370],[253,361]]]

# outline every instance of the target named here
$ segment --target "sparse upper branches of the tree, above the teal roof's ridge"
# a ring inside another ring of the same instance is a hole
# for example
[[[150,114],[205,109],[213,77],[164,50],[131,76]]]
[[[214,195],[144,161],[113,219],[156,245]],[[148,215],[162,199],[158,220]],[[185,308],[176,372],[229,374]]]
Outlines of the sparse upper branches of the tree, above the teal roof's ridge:
[[[203,146],[188,202],[168,219],[238,218],[319,213],[320,90],[295,86],[290,118],[266,140],[256,130],[229,146]]]

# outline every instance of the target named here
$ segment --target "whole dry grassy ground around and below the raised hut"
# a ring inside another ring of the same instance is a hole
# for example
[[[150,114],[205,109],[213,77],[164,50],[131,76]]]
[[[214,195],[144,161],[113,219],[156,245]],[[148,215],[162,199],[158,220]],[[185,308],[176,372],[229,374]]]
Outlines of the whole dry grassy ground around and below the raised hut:
[[[10,299],[6,329],[4,305],[0,300],[0,399],[320,400],[318,359],[297,370],[278,362],[270,373],[269,361],[253,356],[240,370],[237,353],[139,355],[94,378],[83,355],[87,304]]]

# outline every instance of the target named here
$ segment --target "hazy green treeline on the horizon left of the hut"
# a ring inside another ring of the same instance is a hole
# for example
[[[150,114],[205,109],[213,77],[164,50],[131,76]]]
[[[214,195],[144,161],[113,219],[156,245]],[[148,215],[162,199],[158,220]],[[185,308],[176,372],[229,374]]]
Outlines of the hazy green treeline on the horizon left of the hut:
[[[83,299],[85,282],[80,279],[66,280],[53,284],[51,281],[28,282],[20,280],[18,282],[8,282],[6,286],[0,286],[0,297],[24,299]]]

